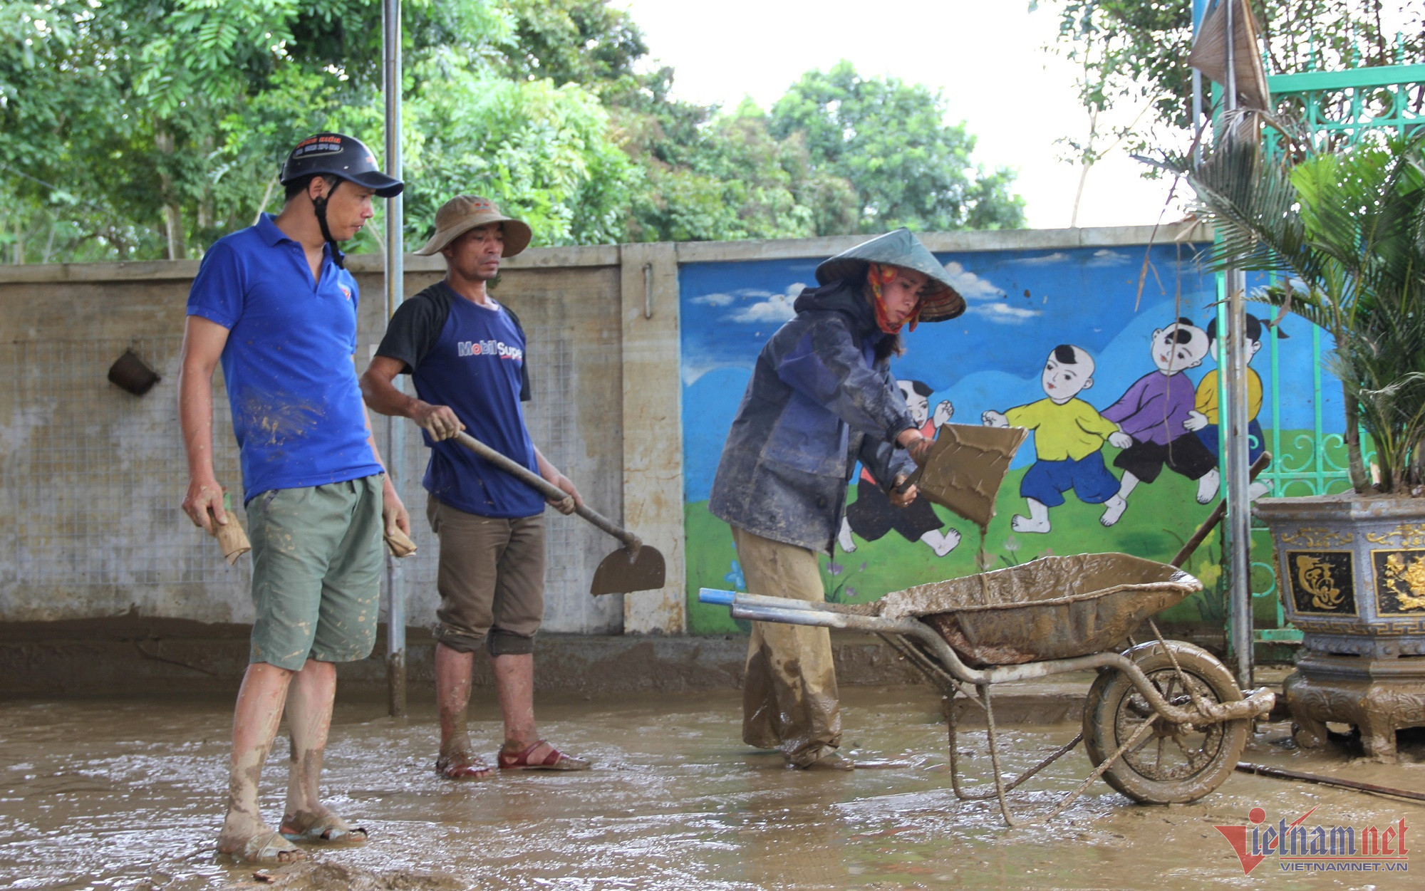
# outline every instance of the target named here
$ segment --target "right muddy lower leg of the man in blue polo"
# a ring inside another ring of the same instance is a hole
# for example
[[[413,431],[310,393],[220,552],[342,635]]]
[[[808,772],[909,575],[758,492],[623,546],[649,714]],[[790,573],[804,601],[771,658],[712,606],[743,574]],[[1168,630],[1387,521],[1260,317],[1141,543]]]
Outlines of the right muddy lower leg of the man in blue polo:
[[[292,733],[292,764],[286,776],[284,831],[301,831],[329,813],[322,804],[322,756],[332,726],[336,666],[308,659],[286,692],[286,724]]]

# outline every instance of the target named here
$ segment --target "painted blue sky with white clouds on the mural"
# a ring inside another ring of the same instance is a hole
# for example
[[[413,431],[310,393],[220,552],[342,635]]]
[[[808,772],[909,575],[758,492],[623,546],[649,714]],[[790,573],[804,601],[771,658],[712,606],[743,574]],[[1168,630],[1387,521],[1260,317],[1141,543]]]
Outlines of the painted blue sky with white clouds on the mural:
[[[791,319],[801,289],[815,283],[819,259],[681,266],[688,501],[708,497],[757,354],[771,333]],[[933,390],[932,407],[949,400],[956,423],[978,424],[986,410],[1003,411],[1043,399],[1039,374],[1057,344],[1079,346],[1094,357],[1094,386],[1080,397],[1103,410],[1153,370],[1149,342],[1154,329],[1178,315],[1206,326],[1216,315],[1214,278],[1198,268],[1191,245],[986,251],[940,253],[938,259],[969,309],[959,319],[922,325],[908,334],[908,352],[892,363],[892,370],[899,379],[926,383]],[[1270,317],[1271,310],[1258,306],[1248,312]],[[1290,339],[1278,342],[1278,374],[1288,383],[1274,407],[1278,426],[1310,428],[1315,364],[1311,326],[1288,316],[1281,330]],[[1270,344],[1251,367],[1271,393]],[[1186,374],[1196,386],[1213,369],[1210,357]],[[1324,390],[1322,416],[1334,430],[1340,426],[1335,418],[1341,417],[1341,397],[1335,387]],[[1271,411],[1271,406],[1264,407],[1260,417],[1267,427],[1273,426]],[[1032,461],[1033,450],[1020,450],[1016,467]]]

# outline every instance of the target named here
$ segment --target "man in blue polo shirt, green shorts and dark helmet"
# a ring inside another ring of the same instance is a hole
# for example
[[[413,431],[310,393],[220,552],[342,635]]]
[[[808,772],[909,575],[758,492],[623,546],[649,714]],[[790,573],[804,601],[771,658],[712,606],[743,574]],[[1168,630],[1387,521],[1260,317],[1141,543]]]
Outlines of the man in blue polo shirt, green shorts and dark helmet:
[[[225,524],[212,470],[212,370],[221,362],[242,460],[252,534],[251,663],[232,719],[228,814],[218,851],[286,863],[292,841],[356,841],[321,801],[335,662],[370,655],[380,596],[382,532],[410,531],[361,401],[356,280],[336,242],[372,216],[372,195],[402,184],[361,141],[304,139],[282,167],[286,204],[218,241],[188,296],[178,414],[188,453],[182,508]],[[258,780],[282,720],[292,733],[278,830],[258,813]]]

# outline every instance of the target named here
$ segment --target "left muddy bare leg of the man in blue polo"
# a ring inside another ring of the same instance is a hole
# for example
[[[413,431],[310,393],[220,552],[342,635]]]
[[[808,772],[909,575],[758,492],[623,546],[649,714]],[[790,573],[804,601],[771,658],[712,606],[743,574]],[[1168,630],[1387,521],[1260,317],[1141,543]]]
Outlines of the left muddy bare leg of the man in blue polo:
[[[254,835],[271,831],[258,813],[258,781],[282,720],[282,703],[295,672],[254,662],[242,676],[232,713],[232,760],[228,773],[228,816],[218,851],[234,854]]]

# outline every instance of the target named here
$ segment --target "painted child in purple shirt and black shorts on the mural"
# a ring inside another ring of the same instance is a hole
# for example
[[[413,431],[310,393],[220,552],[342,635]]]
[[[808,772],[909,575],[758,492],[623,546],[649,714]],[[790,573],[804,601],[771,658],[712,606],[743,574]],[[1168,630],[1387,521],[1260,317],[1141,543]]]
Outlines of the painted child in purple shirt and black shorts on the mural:
[[[1183,371],[1203,364],[1207,332],[1193,325],[1191,319],[1178,319],[1153,332],[1149,352],[1157,367],[1103,410],[1103,417],[1133,437],[1133,445],[1113,460],[1113,465],[1123,471],[1123,483],[1119,500],[1110,500],[1099,520],[1106,527],[1123,517],[1137,484],[1157,480],[1164,464],[1194,483],[1217,468],[1213,453],[1197,434],[1183,427],[1197,406],[1197,389]]]

